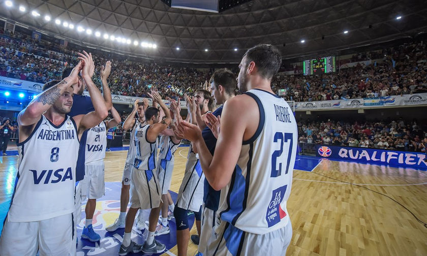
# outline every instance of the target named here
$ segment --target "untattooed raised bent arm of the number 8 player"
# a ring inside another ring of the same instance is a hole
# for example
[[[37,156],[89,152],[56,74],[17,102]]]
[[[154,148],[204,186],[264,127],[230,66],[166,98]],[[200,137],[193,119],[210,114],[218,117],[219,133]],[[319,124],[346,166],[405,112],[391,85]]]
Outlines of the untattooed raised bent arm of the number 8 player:
[[[94,105],[95,111],[89,112],[85,115],[75,116],[74,120],[76,121],[77,127],[79,129],[79,134],[84,130],[89,129],[90,127],[94,127],[99,124],[102,120],[104,120],[108,116],[108,109],[105,106],[104,98],[99,91],[98,87],[90,78],[90,67],[94,60],[92,59],[92,54],[83,51],[79,54],[79,59],[81,59],[84,63],[81,76],[83,81],[86,83],[86,88],[89,91],[90,100]]]

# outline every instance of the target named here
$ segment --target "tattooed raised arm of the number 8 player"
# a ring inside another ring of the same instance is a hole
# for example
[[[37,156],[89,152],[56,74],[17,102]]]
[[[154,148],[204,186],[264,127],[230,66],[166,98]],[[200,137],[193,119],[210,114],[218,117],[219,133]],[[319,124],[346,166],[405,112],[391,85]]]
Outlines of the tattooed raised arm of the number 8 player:
[[[19,126],[28,126],[37,123],[42,114],[55,103],[60,95],[62,95],[67,88],[71,87],[72,84],[78,82],[78,73],[81,68],[82,62],[80,61],[68,77],[37,95],[37,98],[19,112]]]

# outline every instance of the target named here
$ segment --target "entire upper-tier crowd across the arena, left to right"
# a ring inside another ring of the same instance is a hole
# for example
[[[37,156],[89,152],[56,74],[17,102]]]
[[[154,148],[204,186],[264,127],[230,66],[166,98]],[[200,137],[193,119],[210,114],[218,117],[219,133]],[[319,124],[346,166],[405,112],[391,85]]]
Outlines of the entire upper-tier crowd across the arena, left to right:
[[[0,31],[1,33],[2,31]],[[63,69],[77,62],[76,52],[52,42],[36,41],[29,35],[11,32],[8,36],[25,42],[0,42],[0,76],[45,83],[59,79]],[[60,51],[60,52],[59,52]],[[273,90],[286,89],[290,101],[325,101],[354,98],[387,97],[427,92],[427,48],[425,43],[403,44],[381,51],[355,54],[350,61],[371,59],[371,64],[358,64],[339,72],[303,76],[279,74],[272,81]],[[111,60],[95,55],[96,75],[100,85],[101,65]],[[156,87],[167,97],[181,97],[200,88],[212,70],[161,66],[157,63],[112,59],[110,88],[113,94],[146,97]]]

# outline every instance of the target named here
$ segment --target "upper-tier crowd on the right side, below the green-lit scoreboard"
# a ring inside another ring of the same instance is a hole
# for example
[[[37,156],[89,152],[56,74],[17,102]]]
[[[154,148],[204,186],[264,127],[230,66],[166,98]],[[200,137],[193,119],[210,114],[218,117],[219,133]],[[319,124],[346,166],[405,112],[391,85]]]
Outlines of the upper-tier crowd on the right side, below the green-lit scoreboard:
[[[354,60],[372,59],[371,64],[316,76],[278,75],[273,89],[286,89],[286,100],[327,101],[387,97],[427,92],[427,47],[425,43],[403,44]],[[381,57],[381,58],[379,58]]]

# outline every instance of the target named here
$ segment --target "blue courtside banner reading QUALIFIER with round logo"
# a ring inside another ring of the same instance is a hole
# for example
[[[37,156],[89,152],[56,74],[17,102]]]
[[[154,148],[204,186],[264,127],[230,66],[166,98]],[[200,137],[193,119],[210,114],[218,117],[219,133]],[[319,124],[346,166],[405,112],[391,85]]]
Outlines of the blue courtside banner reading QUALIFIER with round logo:
[[[425,153],[316,144],[316,155],[340,161],[427,170]]]

